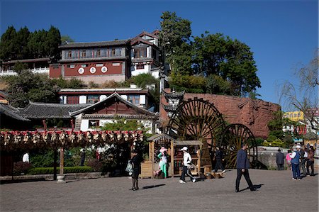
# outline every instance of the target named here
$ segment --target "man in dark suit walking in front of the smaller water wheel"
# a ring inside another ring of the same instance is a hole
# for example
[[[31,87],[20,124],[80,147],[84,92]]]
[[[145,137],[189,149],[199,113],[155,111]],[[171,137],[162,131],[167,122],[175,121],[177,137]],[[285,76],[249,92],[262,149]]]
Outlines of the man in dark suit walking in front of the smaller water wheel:
[[[242,178],[242,174],[244,175],[248,186],[250,187],[250,191],[256,191],[257,189],[252,184],[250,180],[250,174],[248,169],[250,168],[250,161],[247,157],[247,144],[242,144],[242,148],[237,152],[237,179],[236,179],[236,187],[235,192],[239,192],[240,179]]]

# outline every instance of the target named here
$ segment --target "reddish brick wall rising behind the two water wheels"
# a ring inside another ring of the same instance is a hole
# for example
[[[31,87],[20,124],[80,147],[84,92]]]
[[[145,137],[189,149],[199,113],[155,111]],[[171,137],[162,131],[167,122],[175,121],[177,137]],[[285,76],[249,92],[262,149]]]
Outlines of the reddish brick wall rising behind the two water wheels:
[[[165,89],[169,92],[169,89]],[[241,123],[246,125],[255,137],[267,138],[269,128],[267,123],[272,120],[274,111],[281,110],[278,104],[259,99],[252,100],[250,98],[241,98],[237,96],[223,96],[215,94],[184,94],[184,100],[194,99],[194,97],[203,98],[213,103],[218,111],[223,114],[223,118],[227,123]],[[168,105],[162,95],[160,97],[161,104]],[[167,112],[163,106],[159,109],[162,121],[167,120]]]

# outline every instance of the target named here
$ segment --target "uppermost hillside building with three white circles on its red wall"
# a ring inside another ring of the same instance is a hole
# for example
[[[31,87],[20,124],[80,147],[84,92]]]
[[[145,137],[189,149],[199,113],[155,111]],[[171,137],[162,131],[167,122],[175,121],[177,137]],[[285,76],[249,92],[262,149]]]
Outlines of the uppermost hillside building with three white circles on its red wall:
[[[50,65],[50,77],[77,78],[99,84],[125,81],[142,73],[159,78],[164,68],[157,34],[155,30],[128,40],[61,45],[61,60]]]

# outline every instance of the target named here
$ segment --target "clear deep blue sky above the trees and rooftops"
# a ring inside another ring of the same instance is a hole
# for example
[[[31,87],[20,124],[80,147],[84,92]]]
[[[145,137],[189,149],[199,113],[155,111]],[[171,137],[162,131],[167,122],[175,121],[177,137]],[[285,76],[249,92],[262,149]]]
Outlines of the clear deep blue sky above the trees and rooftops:
[[[59,28],[76,42],[134,38],[160,29],[164,11],[191,21],[192,35],[223,33],[250,46],[262,87],[260,99],[279,102],[285,80],[318,49],[318,1],[28,1],[0,0],[1,35],[8,26]],[[317,95],[318,96],[318,95]]]

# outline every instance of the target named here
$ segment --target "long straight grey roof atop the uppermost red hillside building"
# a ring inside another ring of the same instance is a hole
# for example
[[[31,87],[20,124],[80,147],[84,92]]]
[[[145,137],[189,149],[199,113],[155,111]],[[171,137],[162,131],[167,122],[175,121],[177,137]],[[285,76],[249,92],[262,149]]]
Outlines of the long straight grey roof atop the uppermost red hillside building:
[[[114,45],[125,45],[130,40],[112,40],[112,41],[101,41],[101,42],[88,42],[88,43],[67,43],[65,45],[60,45],[59,48],[91,48],[100,46],[114,46]]]

